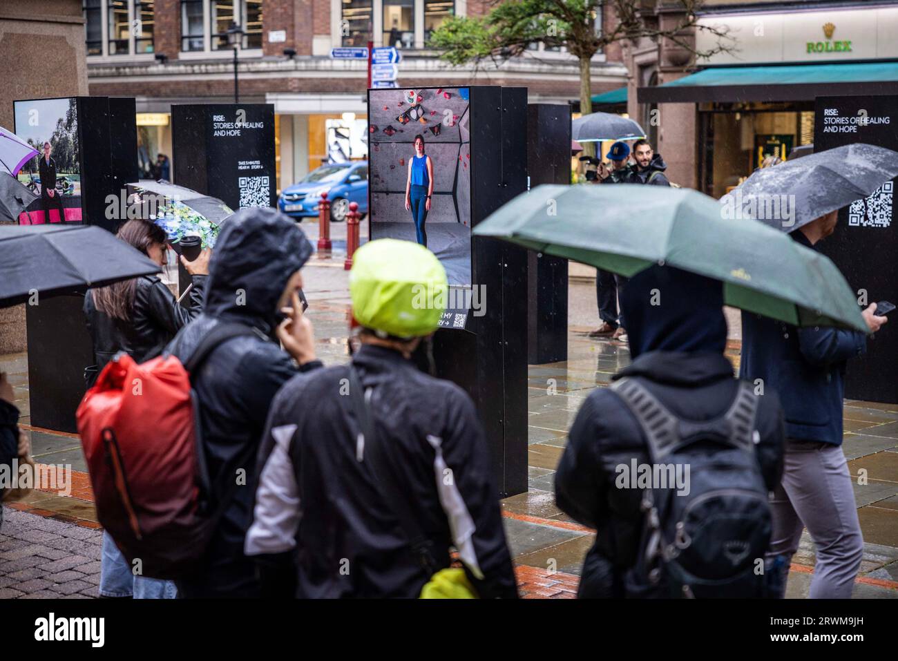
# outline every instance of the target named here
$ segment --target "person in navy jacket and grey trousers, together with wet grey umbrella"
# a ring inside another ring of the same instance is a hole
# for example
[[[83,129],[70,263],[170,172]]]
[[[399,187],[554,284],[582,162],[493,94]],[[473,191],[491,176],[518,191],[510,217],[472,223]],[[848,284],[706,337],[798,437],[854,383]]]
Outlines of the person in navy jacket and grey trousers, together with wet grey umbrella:
[[[835,231],[841,207],[895,176],[898,153],[857,143],[756,170],[720,201],[727,211],[734,202],[744,205],[739,210],[745,215],[816,251]],[[799,329],[742,315],[741,375],[775,388],[786,416],[785,467],[771,503],[768,555],[785,560],[782,571],[788,570],[807,528],[817,557],[812,598],[849,598],[863,557],[857,503],[841,448],[845,369],[850,358],[866,352],[867,334],[879,331],[887,320],[876,314],[875,304],[862,317],[866,332],[824,324]]]

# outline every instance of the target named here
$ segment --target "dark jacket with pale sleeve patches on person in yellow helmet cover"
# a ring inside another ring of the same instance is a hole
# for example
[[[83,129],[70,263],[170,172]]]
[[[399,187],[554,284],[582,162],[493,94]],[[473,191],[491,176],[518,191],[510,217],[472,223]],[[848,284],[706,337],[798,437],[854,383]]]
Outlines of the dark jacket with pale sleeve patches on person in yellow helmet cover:
[[[437,565],[448,567],[454,546],[481,598],[515,597],[498,491],[471,398],[392,348],[364,345],[353,363],[372,393],[377,437],[359,440],[343,389],[347,366],[287,383],[262,446],[247,552],[289,554],[298,597],[417,597],[430,574],[410,551],[371,465],[371,444],[389,443],[395,483],[405,488],[400,498],[412,506]]]

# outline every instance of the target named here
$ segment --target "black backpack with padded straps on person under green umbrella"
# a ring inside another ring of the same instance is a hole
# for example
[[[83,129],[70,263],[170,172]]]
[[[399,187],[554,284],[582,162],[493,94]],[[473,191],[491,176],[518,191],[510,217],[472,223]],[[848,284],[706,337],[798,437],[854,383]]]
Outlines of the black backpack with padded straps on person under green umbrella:
[[[739,382],[729,410],[704,422],[676,418],[638,380],[611,387],[642,427],[652,467],[673,465],[688,477],[688,489],[678,493],[670,480],[659,486],[675,472],[653,470],[657,478],[643,490],[637,562],[624,578],[627,596],[765,596],[770,505],[755,455],[752,386]]]

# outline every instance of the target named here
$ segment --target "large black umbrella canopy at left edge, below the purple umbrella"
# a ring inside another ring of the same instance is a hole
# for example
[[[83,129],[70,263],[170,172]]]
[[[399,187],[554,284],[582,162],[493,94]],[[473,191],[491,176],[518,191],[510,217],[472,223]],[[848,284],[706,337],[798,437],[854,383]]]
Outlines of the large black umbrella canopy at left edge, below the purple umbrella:
[[[158,273],[160,266],[101,227],[0,225],[0,307]]]

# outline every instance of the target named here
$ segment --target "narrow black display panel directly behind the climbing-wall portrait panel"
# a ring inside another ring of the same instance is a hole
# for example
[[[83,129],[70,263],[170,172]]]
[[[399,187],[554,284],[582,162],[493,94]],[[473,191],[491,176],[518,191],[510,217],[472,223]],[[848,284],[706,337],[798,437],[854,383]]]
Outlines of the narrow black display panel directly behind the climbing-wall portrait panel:
[[[570,183],[570,106],[527,106],[527,176],[531,188]],[[527,362],[568,359],[568,260],[527,251]]]

